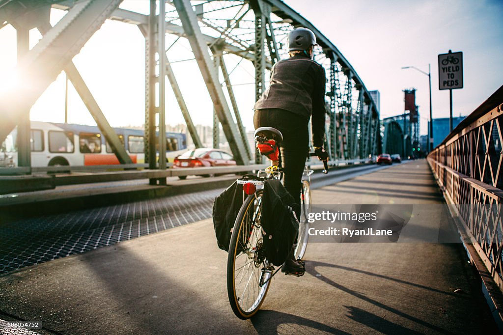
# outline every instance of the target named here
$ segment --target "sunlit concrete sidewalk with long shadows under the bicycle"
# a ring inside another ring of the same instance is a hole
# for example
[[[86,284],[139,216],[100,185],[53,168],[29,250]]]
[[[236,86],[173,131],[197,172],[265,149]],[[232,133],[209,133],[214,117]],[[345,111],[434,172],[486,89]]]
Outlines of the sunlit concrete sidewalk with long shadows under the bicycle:
[[[313,195],[442,202],[425,161]],[[278,274],[262,310],[239,320],[227,254],[203,220],[1,276],[0,310],[68,334],[497,332],[459,243],[311,243],[305,258],[303,277]]]

